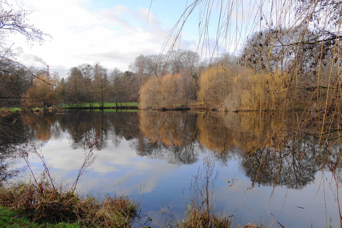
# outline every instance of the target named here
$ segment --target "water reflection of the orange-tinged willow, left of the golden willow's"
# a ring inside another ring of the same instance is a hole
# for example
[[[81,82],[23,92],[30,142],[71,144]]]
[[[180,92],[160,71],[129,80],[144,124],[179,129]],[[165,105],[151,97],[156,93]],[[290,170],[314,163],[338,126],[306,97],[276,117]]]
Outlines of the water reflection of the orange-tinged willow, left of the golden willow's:
[[[140,110],[138,115],[139,128],[143,133],[135,143],[139,156],[164,159],[174,164],[197,162],[195,113]]]

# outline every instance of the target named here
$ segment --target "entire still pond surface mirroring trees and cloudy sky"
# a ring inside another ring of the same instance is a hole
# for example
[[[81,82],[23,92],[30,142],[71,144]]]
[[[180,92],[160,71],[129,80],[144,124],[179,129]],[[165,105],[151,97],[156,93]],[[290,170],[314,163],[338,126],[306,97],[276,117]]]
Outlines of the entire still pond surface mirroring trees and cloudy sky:
[[[233,215],[233,225],[262,221],[278,227],[272,213],[285,227],[339,226],[336,187],[316,159],[317,147],[304,141],[301,152],[292,147],[281,154],[260,147],[257,139],[279,124],[267,113],[63,110],[20,118],[27,140],[44,155],[57,182],[74,180],[97,135],[96,158],[78,191],[140,201],[153,220],[143,225],[146,216],[135,227],[160,227],[170,210],[182,219],[190,185],[207,156],[218,171],[213,205]],[[250,156],[251,151],[256,152]],[[41,162],[35,157],[30,162],[39,175]]]

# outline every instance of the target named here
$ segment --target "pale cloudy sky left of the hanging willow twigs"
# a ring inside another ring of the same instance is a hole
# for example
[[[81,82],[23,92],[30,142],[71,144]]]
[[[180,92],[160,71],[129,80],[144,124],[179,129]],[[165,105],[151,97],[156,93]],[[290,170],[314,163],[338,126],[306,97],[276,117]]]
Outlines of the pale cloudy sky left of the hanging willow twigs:
[[[26,66],[58,71],[67,77],[70,67],[100,62],[122,71],[140,54],[159,54],[168,31],[185,9],[182,0],[29,0],[24,9],[33,11],[29,23],[44,33],[42,45],[15,35],[12,49]],[[151,5],[151,8],[150,8]],[[149,11],[150,8],[150,11]],[[197,23],[196,18],[189,24]],[[196,50],[197,29],[189,26],[179,48]],[[196,28],[196,27],[195,27]],[[12,40],[11,43],[12,44]]]

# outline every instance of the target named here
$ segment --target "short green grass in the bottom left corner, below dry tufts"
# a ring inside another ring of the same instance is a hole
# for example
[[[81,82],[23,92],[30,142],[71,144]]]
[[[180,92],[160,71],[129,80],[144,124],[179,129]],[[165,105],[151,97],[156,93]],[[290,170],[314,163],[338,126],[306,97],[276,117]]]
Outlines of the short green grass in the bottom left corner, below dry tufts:
[[[0,227],[6,228],[81,228],[78,224],[70,223],[58,223],[58,224],[47,224],[47,223],[34,223],[30,222],[26,218],[17,216],[18,213],[15,211],[8,210],[4,207],[0,207]],[[82,226],[84,227],[84,226]]]

